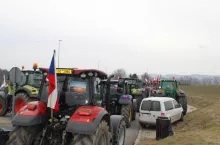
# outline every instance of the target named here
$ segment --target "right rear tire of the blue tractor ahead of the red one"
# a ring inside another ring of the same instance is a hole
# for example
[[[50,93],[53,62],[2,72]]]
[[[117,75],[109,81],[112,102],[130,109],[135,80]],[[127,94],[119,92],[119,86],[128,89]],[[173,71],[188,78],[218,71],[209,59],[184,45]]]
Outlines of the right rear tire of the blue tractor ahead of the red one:
[[[131,120],[132,120],[132,106],[122,105],[121,115],[124,116],[126,127],[129,128],[131,126]]]

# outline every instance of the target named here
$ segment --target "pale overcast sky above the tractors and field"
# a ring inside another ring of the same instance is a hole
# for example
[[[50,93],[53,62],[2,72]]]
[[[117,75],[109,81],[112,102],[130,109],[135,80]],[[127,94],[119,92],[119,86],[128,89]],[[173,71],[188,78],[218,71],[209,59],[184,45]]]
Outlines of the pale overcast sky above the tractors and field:
[[[0,0],[0,68],[220,74],[219,0]]]

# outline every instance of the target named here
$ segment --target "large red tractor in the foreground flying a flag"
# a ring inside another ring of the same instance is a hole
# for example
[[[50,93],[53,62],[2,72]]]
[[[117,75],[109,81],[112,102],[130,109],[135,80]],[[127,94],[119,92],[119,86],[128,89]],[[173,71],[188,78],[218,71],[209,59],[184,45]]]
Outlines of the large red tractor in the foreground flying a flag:
[[[123,116],[110,115],[95,99],[95,84],[107,74],[94,69],[61,68],[56,73],[59,111],[47,108],[48,80],[44,77],[39,101],[28,103],[15,115],[6,145],[124,145]]]

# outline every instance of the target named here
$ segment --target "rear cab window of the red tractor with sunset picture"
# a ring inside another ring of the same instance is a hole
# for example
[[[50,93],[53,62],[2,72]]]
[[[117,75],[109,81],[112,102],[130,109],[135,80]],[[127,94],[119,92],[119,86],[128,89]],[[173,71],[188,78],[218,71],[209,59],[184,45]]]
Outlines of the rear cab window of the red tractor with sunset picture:
[[[41,100],[47,102],[49,83],[44,84]],[[57,76],[59,104],[74,106],[84,105],[90,101],[89,80],[78,77]]]

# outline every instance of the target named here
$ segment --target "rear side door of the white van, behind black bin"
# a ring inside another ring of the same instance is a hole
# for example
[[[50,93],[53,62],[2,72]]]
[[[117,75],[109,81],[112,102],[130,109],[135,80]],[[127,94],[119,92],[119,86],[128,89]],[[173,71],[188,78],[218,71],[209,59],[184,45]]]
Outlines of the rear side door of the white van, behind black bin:
[[[174,110],[174,105],[172,101],[166,101],[164,102],[164,107],[165,107],[165,114],[167,117],[171,118],[171,122],[173,123],[175,121],[175,110]]]

